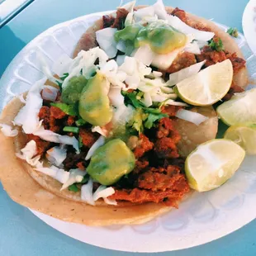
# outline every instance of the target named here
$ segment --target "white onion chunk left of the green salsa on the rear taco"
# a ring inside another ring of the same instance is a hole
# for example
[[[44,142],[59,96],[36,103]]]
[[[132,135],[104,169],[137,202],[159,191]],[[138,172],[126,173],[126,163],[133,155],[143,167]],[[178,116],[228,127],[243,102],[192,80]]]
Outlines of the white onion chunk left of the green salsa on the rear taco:
[[[116,40],[115,33],[117,29],[107,27],[96,32],[97,43],[100,45],[102,50],[107,53],[107,56],[112,59],[116,56]]]

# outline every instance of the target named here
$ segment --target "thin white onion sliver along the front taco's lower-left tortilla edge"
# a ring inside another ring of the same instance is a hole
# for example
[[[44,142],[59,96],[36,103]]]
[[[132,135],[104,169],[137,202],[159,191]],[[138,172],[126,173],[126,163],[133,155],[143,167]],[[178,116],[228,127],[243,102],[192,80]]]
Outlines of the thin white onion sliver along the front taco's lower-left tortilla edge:
[[[55,178],[59,183],[66,183],[69,180],[69,172],[64,171],[62,168],[57,168],[52,165],[50,167],[37,167],[36,171],[40,173],[45,173],[51,178]]]

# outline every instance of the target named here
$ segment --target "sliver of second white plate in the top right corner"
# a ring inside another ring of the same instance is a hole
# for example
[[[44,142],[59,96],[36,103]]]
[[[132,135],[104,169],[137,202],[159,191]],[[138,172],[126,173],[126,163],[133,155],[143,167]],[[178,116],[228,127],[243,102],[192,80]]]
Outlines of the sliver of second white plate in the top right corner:
[[[243,15],[244,36],[256,55],[256,0],[250,0]]]

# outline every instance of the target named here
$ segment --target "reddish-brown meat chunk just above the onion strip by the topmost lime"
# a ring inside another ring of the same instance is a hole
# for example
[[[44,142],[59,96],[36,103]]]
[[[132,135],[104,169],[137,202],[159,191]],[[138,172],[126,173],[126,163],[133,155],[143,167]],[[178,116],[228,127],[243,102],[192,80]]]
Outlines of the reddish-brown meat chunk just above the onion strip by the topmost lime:
[[[175,73],[181,69],[190,67],[192,64],[196,64],[196,56],[192,53],[184,52],[174,59],[173,64],[166,70],[167,73]]]

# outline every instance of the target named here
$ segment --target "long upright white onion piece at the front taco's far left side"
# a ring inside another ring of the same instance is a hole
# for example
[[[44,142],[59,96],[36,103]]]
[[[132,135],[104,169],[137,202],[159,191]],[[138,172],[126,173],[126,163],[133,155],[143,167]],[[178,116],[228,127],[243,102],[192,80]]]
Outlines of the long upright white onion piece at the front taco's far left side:
[[[40,126],[38,114],[43,105],[40,91],[45,81],[46,78],[43,78],[30,88],[26,96],[26,105],[21,108],[14,119],[14,123],[17,126],[22,126],[26,134],[33,133]]]

